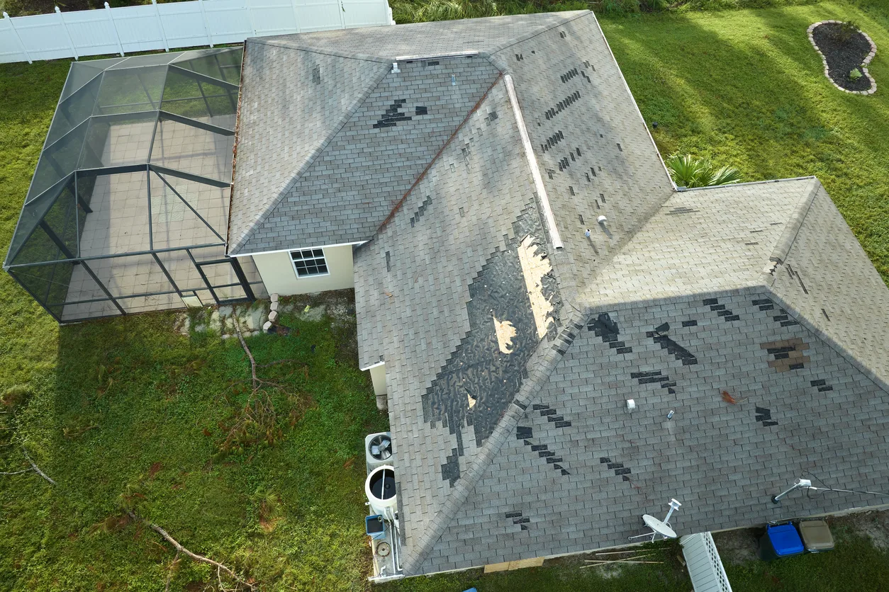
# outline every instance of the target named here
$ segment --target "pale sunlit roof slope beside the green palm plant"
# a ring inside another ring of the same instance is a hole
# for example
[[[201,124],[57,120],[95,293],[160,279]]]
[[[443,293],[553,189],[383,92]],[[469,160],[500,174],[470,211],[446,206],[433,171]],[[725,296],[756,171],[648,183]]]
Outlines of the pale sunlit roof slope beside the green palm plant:
[[[820,187],[799,178],[673,193],[582,298],[604,306],[762,286],[769,258]]]

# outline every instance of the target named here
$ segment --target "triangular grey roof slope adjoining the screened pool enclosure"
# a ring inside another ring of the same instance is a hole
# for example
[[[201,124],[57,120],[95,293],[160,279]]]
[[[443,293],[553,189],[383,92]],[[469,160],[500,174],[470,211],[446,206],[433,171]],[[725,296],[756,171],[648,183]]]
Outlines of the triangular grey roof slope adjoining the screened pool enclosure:
[[[251,252],[244,247],[276,201],[387,72],[385,65],[362,59],[247,41],[228,225],[230,254]]]

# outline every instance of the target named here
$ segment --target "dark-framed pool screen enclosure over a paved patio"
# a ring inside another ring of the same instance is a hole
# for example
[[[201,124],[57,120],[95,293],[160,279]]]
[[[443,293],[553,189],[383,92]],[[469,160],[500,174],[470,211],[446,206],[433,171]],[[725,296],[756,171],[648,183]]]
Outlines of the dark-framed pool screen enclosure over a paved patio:
[[[4,262],[56,320],[265,296],[226,257],[242,55],[71,65]]]

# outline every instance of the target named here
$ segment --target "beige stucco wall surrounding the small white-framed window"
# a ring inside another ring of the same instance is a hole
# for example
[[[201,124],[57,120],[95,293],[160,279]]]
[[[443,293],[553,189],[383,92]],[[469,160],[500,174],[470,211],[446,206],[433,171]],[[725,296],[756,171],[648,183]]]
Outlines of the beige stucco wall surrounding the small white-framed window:
[[[256,262],[256,268],[269,294],[288,296],[355,287],[352,275],[352,245],[324,247],[324,259],[327,261],[329,272],[327,275],[298,278],[293,270],[289,252],[253,255],[253,261]]]

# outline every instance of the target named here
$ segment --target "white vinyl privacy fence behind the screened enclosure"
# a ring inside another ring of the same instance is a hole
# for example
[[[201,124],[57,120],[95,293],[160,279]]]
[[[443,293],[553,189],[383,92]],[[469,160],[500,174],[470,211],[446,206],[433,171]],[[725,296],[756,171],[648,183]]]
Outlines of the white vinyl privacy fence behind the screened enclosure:
[[[0,62],[171,50],[392,24],[386,0],[190,0],[0,20]]]

